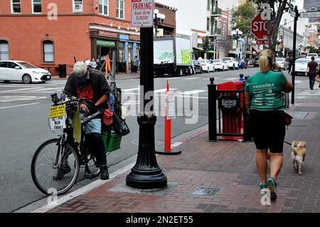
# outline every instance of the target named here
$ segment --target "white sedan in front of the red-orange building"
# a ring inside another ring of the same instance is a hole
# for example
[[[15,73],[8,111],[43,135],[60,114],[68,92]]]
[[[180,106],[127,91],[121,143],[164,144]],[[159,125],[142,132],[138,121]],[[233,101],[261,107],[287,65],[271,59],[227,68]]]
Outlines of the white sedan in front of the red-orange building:
[[[45,83],[52,79],[48,70],[38,68],[22,60],[0,60],[0,80],[9,83],[19,80],[23,83]]]

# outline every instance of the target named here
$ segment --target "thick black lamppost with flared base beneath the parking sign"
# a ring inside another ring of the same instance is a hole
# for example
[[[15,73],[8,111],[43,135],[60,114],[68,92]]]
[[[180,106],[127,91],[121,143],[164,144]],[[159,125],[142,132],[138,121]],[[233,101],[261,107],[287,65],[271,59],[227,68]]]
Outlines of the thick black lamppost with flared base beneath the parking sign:
[[[154,29],[144,27],[140,30],[141,66],[140,90],[143,100],[140,101],[140,112],[137,117],[139,124],[139,148],[137,162],[127,175],[126,185],[136,189],[161,189],[167,186],[166,175],[156,162],[154,146]],[[151,97],[146,99],[146,93]],[[143,96],[142,96],[143,95]],[[151,104],[151,105],[150,105]],[[146,107],[150,110],[146,110]]]

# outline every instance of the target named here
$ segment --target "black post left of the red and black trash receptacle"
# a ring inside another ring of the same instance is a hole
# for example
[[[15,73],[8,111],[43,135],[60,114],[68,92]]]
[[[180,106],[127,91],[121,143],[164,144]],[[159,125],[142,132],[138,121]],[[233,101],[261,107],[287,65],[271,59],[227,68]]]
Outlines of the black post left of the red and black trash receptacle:
[[[217,85],[215,78],[210,78],[208,85],[208,124],[209,124],[209,141],[217,142]]]

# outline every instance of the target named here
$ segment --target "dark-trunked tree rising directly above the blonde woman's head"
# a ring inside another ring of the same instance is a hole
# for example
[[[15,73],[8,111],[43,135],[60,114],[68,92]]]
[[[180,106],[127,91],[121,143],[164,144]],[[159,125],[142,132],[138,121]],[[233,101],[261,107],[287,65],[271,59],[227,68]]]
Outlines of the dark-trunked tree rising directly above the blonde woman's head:
[[[257,4],[260,9],[260,12],[265,9],[262,7],[262,4],[269,4],[271,9],[271,22],[273,24],[273,34],[271,36],[272,43],[270,48],[272,49],[275,56],[275,48],[277,46],[277,36],[279,31],[279,25],[282,19],[282,15],[285,12],[291,12],[293,9],[293,3],[295,0],[252,0]]]

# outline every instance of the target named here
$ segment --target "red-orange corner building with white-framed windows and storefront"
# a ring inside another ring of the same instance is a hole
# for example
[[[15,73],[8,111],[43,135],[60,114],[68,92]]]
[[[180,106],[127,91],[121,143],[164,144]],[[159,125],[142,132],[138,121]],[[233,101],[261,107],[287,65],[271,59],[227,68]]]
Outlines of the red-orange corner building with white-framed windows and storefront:
[[[117,71],[139,56],[129,0],[1,0],[0,59],[73,64],[117,53]],[[5,47],[4,47],[5,46]]]

